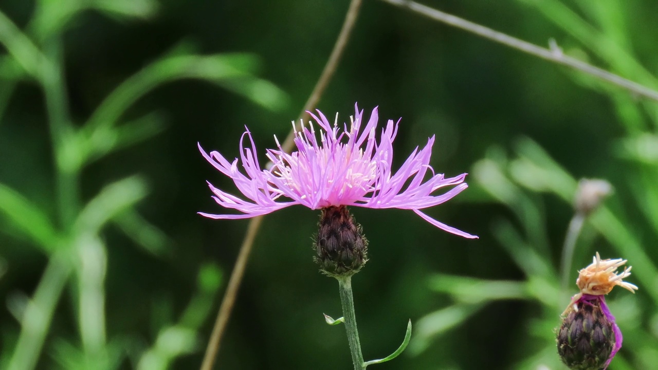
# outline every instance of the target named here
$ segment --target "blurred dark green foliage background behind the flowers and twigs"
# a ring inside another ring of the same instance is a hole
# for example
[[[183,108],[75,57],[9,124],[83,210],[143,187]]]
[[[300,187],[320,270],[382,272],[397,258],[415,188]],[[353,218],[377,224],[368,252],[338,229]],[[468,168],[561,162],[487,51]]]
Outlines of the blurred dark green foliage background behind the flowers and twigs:
[[[264,154],[332,49],[336,1],[3,0],[0,10],[0,367],[195,369],[248,221],[197,149]],[[652,0],[424,1],[658,88]],[[18,33],[21,30],[22,33]],[[397,165],[436,135],[432,165],[470,187],[428,213],[353,209],[370,261],[353,278],[378,369],[566,369],[553,328],[579,178],[615,193],[586,221],[573,271],[634,266],[609,296],[611,370],[658,367],[658,105],[381,1],[367,0],[318,104],[402,117]],[[264,158],[264,156],[263,156]],[[261,159],[264,161],[264,159]],[[338,284],[313,263],[318,212],[266,217],[216,368],[349,369]],[[621,290],[621,289],[619,289]]]

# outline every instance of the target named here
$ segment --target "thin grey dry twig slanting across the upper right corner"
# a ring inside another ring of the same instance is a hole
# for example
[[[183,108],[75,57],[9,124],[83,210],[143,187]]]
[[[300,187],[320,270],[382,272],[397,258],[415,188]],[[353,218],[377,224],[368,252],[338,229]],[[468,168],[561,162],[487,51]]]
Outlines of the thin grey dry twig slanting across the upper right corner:
[[[545,49],[544,47],[534,45],[533,43],[519,40],[517,38],[513,38],[512,36],[508,36],[501,32],[497,32],[495,30],[492,30],[491,28],[480,26],[480,24],[469,22],[468,20],[459,18],[451,14],[443,13],[442,11],[438,11],[434,8],[426,7],[425,5],[416,3],[415,1],[409,1],[409,0],[382,0],[382,1],[384,1],[384,3],[395,5],[396,7],[409,9],[414,13],[420,14],[422,16],[426,16],[428,18],[437,20],[445,24],[449,24],[450,26],[456,28],[461,28],[462,30],[465,30],[472,34],[482,36],[482,38],[486,38],[488,40],[492,40],[497,43],[502,43],[503,45],[507,45],[513,49],[523,51],[524,53],[528,53],[530,55],[534,55],[542,59],[546,59],[547,61],[552,61],[560,65],[569,66],[570,68],[580,70],[582,72],[600,78],[601,80],[605,80],[607,82],[610,82],[611,84],[620,86],[636,95],[644,96],[649,99],[658,101],[658,92],[656,92],[655,90],[651,90],[646,86],[640,85],[636,82],[632,82],[631,80],[627,80],[626,78],[608,72],[607,70],[603,70],[601,68],[588,65],[587,63],[579,61],[578,59],[569,57],[565,55],[561,51],[561,49],[557,47],[557,45],[555,45],[556,47],[552,47],[551,49]]]

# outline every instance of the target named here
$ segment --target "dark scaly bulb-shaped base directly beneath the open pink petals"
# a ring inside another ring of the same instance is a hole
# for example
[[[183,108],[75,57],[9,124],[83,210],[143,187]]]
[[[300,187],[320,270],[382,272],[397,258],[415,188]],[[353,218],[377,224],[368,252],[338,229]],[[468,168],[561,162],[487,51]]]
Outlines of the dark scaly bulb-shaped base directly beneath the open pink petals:
[[[320,271],[334,277],[359,272],[368,261],[368,241],[347,207],[323,208],[318,226],[315,261]]]

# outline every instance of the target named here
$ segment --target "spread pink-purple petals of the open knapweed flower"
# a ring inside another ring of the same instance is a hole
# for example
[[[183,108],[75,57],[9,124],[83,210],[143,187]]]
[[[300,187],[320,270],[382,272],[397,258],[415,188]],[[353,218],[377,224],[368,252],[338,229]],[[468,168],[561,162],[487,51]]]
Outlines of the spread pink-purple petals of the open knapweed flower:
[[[405,163],[393,173],[393,140],[399,121],[393,123],[393,120],[388,120],[379,142],[376,142],[377,108],[372,110],[370,119],[362,127],[363,110],[359,111],[355,105],[355,117],[351,117],[349,130],[347,124],[341,130],[337,122],[330,124],[320,111],[317,113],[317,116],[310,114],[320,126],[318,134],[313,122],[309,127],[303,127],[301,132],[295,130],[297,151],[286,153],[274,136],[278,149],[268,149],[266,154],[273,163],[270,169],[261,169],[248,128],[240,139],[240,160],[236,158],[232,163],[217,151],[209,155],[199,145],[203,157],[232,178],[242,195],[249,199],[238,198],[209,182],[215,201],[241,214],[199,214],[211,219],[247,219],[295,204],[311,209],[332,205],[411,209],[428,223],[447,232],[477,238],[420,211],[439,205],[468,187],[464,182],[465,173],[451,178],[434,173],[429,164],[434,136],[420,151],[418,147],[414,149]],[[244,145],[245,136],[249,138],[250,145]],[[241,162],[245,173],[238,168],[238,162]],[[423,182],[428,171],[431,176]],[[449,186],[454,187],[443,194],[432,195]]]

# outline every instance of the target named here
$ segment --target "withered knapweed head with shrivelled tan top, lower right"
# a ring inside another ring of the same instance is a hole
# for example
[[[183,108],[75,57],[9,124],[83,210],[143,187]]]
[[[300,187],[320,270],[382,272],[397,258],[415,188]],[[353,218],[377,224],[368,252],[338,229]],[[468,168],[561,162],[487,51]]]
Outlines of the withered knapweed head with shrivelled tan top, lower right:
[[[605,304],[605,294],[615,286],[635,292],[637,286],[625,282],[631,267],[617,273],[626,259],[603,259],[596,253],[594,261],[580,270],[576,284],[580,292],[573,296],[562,313],[557,332],[557,352],[574,370],[607,369],[622,344],[621,330]]]

